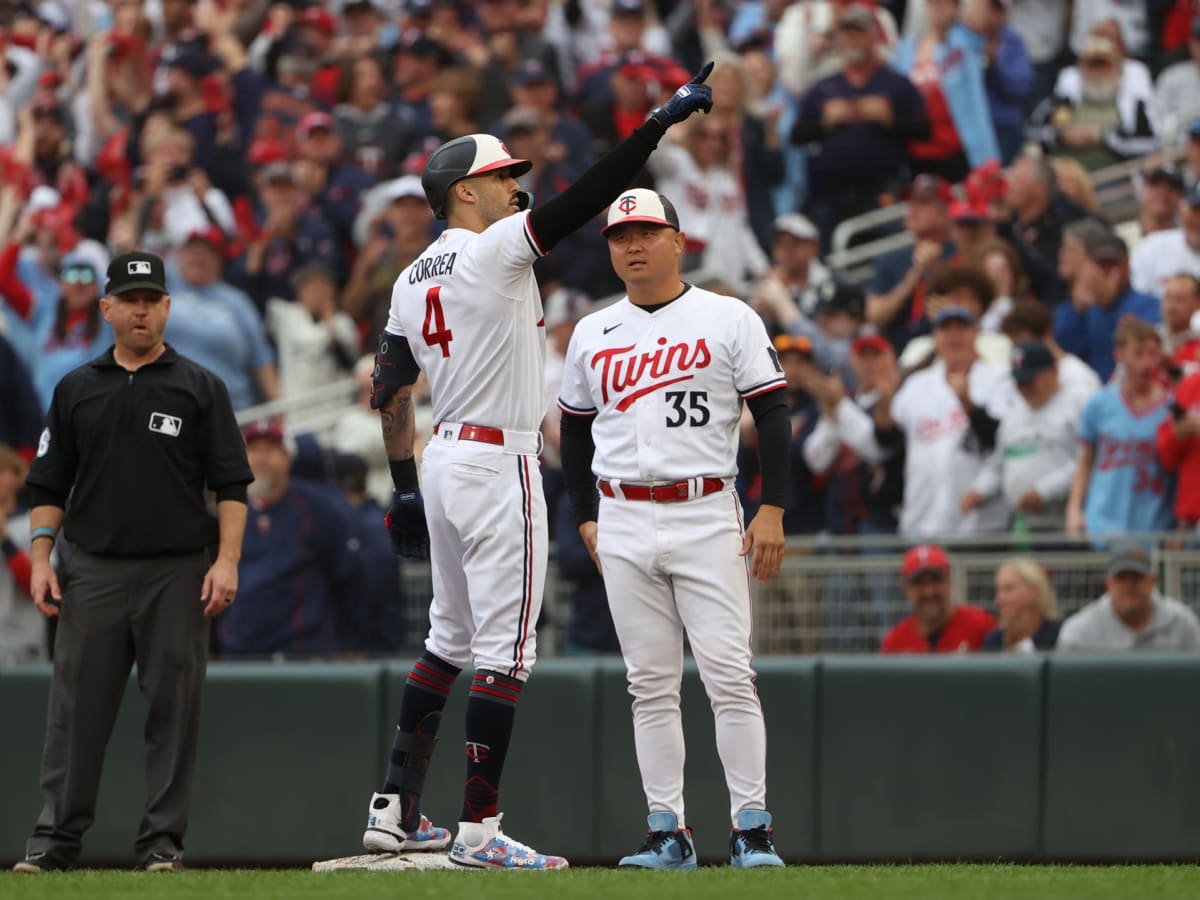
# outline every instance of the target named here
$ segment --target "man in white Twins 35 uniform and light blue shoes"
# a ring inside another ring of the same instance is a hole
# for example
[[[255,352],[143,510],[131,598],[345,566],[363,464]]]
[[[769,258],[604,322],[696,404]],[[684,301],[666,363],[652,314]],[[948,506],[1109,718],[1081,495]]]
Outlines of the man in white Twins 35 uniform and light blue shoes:
[[[646,841],[620,865],[696,865],[683,800],[685,631],[716,720],[731,863],[782,865],[766,806],[748,575],[766,581],[784,553],[784,371],[746,304],[680,281],[685,238],[670,200],[626,191],[605,234],[629,294],[576,326],[559,407],[563,470],[629,670],[649,806]],[[743,401],[758,430],[763,485],[763,505],[745,528],[733,491]]]

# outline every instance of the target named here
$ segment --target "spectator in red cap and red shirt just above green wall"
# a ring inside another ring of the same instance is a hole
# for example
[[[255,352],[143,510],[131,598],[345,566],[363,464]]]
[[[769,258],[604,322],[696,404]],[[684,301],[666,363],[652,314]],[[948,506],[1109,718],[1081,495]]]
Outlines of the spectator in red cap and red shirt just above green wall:
[[[912,616],[883,636],[884,653],[978,650],[996,628],[983,610],[950,599],[950,560],[931,544],[912,547],[900,570]]]

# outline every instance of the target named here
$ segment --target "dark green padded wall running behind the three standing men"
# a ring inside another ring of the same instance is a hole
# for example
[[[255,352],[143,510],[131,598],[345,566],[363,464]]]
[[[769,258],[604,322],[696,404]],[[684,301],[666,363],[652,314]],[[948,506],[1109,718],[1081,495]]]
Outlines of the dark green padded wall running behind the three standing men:
[[[1200,658],[767,658],[769,806],[791,862],[1200,858]],[[404,664],[209,668],[187,860],[305,865],[361,852]],[[0,670],[0,862],[40,808],[49,668]],[[460,685],[426,811],[454,827]],[[695,670],[683,686],[688,822],[727,854],[728,794]],[[131,682],[84,863],[132,865],[145,794]],[[523,694],[505,823],[539,850],[613,863],[644,830],[620,660],[545,660]]]

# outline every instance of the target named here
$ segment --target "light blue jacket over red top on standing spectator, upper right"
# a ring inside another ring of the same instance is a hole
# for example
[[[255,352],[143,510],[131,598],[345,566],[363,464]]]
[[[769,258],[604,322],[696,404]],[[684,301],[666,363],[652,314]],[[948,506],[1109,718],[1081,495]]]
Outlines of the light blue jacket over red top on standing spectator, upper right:
[[[912,71],[917,42],[906,37],[896,44],[892,67],[902,74]],[[934,54],[942,76],[942,94],[958,128],[971,168],[1000,158],[1000,145],[991,125],[988,94],[984,90],[983,38],[964,25],[954,25]]]

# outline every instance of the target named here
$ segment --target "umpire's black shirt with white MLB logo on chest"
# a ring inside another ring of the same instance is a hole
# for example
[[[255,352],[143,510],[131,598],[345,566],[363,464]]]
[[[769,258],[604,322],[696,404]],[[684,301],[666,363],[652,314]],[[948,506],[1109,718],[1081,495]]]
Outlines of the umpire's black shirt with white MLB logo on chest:
[[[154,557],[217,542],[204,487],[246,499],[253,481],[224,383],[169,346],[130,372],[113,350],[54,390],[28,484],[67,506],[64,534],[90,553]]]

